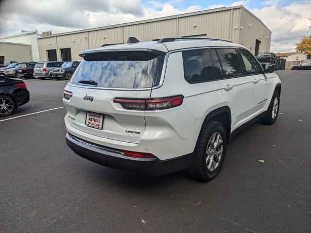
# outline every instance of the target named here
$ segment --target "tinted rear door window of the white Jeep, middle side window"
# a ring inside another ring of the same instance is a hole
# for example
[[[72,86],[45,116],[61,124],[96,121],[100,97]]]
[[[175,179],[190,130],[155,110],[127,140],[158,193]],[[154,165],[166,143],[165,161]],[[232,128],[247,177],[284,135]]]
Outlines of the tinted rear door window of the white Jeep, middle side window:
[[[224,48],[216,49],[220,63],[223,67],[223,77],[239,77],[242,76],[242,67],[235,49]]]

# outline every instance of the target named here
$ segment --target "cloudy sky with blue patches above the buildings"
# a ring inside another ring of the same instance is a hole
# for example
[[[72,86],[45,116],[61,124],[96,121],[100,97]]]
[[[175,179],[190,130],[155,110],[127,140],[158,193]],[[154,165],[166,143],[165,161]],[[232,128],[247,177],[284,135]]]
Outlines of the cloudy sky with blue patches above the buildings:
[[[0,35],[62,33],[241,4],[270,28],[273,51],[293,50],[311,34],[311,0],[1,0]]]

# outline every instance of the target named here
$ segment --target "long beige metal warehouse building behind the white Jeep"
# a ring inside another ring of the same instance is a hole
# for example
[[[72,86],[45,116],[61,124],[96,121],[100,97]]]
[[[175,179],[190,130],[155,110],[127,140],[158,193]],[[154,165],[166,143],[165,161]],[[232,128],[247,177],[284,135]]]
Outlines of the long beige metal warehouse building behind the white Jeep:
[[[235,6],[38,37],[39,57],[41,61],[78,60],[83,50],[126,43],[130,36],[139,41],[165,37],[224,39],[244,45],[255,55],[269,51],[271,42],[268,27],[245,7]]]

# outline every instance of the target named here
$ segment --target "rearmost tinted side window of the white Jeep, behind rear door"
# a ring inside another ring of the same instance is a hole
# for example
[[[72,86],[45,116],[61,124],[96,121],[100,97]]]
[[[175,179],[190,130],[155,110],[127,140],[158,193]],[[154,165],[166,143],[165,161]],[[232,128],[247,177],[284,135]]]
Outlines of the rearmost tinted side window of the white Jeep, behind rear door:
[[[202,83],[214,79],[209,50],[183,51],[184,76],[188,83]]]

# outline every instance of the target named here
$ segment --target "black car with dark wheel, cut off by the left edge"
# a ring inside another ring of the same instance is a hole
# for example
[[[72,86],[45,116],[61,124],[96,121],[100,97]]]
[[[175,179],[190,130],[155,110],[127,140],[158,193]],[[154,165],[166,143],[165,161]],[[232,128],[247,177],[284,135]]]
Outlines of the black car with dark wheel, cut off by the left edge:
[[[9,116],[29,101],[29,91],[22,80],[0,77],[0,116]]]

